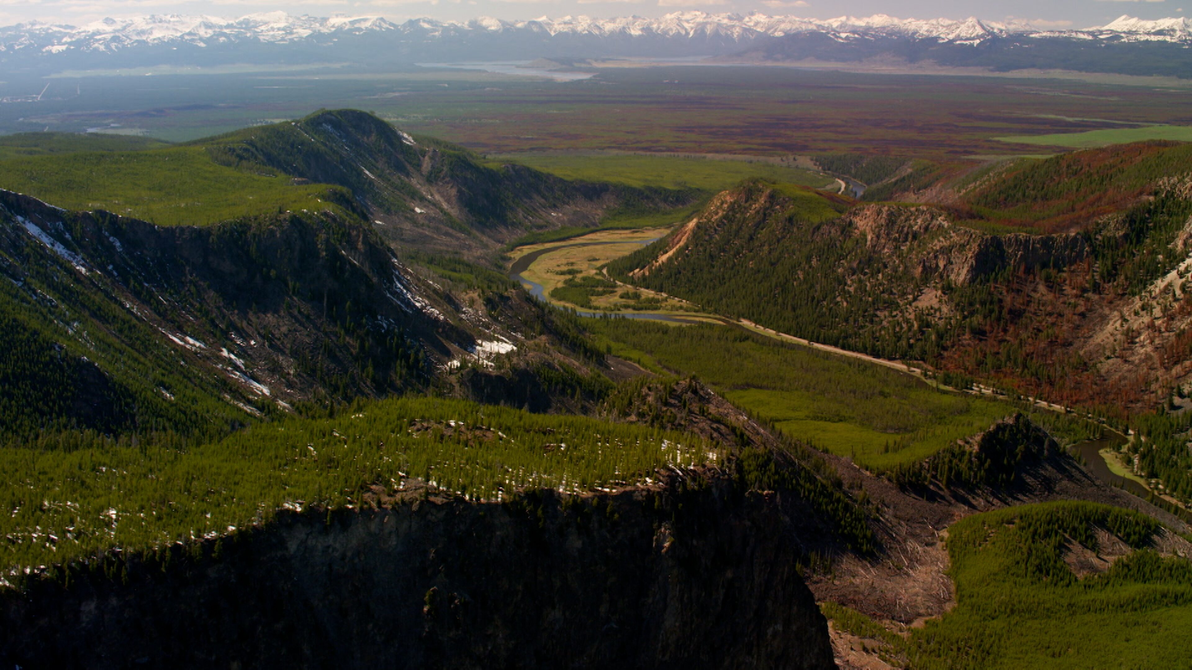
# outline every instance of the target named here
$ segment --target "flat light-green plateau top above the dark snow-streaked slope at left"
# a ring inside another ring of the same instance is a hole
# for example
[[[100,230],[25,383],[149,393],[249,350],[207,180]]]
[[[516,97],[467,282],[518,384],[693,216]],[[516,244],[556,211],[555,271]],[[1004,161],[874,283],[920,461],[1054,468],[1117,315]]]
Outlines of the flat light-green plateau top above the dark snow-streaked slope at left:
[[[325,201],[331,186],[296,186],[286,175],[225,167],[201,147],[8,157],[0,160],[0,188],[68,210],[106,210],[159,225],[335,207]]]

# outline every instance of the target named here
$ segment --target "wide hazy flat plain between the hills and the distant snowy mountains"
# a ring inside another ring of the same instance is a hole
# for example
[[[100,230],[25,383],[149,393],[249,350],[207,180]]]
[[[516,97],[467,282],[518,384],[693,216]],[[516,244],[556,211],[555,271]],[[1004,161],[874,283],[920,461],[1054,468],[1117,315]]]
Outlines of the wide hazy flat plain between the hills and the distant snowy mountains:
[[[13,77],[0,95],[36,95]],[[491,154],[651,151],[784,156],[861,151],[957,157],[1037,154],[997,137],[1122,124],[1192,125],[1192,89],[1005,79],[665,66],[555,82],[480,70],[63,73],[37,103],[0,104],[0,132],[98,130],[194,139],[318,107]]]

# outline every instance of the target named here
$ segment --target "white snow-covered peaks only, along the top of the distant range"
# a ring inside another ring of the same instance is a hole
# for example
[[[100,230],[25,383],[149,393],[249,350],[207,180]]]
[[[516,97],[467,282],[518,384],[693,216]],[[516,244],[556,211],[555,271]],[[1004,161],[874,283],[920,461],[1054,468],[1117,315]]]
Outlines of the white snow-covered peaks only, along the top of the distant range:
[[[750,42],[762,37],[824,33],[837,41],[871,38],[930,39],[952,44],[980,44],[997,37],[1067,37],[1112,42],[1192,43],[1192,23],[1184,18],[1143,20],[1122,17],[1105,26],[1048,31],[1026,24],[982,21],[976,18],[898,19],[884,14],[865,18],[805,19],[765,14],[708,14],[676,12],[650,19],[589,17],[470,21],[414,19],[393,23],[380,17],[294,17],[284,12],[249,14],[236,19],[205,15],[155,14],[104,19],[83,26],[26,23],[0,27],[0,52],[21,50],[58,54],[68,50],[118,51],[137,45],[207,48],[226,43],[293,44],[325,42],[346,36],[387,35],[395,41],[532,33],[541,37],[589,38],[718,38]]]

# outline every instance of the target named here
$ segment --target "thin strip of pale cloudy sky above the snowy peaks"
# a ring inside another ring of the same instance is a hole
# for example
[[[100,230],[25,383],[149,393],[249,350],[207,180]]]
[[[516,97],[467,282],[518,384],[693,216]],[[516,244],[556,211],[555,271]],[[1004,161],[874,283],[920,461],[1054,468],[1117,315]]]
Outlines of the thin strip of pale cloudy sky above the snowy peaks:
[[[147,13],[243,14],[283,10],[292,14],[380,14],[393,19],[433,17],[468,19],[557,18],[586,14],[654,17],[677,10],[752,12],[832,18],[876,13],[900,18],[975,15],[987,20],[1019,19],[1050,27],[1088,27],[1130,14],[1155,19],[1182,17],[1192,0],[0,0],[0,24],[41,19],[83,24],[103,17]]]

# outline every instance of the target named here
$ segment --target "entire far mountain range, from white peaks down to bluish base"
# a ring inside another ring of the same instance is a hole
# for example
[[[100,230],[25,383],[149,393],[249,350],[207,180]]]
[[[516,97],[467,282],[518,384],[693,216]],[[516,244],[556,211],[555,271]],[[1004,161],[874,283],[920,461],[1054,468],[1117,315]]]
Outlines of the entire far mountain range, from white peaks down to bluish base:
[[[1054,31],[976,18],[919,20],[884,14],[820,20],[676,12],[660,18],[395,23],[380,17],[273,12],[236,19],[156,14],[83,26],[29,23],[0,27],[0,72],[35,77],[69,70],[241,64],[405,69],[418,63],[544,57],[887,61],[999,72],[1069,69],[1192,79],[1192,23],[1122,17],[1104,26]]]

